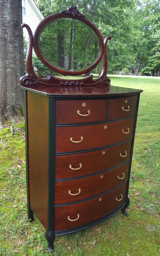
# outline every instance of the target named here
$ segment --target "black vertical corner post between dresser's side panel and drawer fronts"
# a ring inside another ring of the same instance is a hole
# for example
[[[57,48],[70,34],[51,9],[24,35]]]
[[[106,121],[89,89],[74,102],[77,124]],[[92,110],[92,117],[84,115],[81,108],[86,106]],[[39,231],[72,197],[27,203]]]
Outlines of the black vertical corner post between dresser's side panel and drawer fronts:
[[[48,97],[48,202],[47,232],[54,231],[56,100]]]

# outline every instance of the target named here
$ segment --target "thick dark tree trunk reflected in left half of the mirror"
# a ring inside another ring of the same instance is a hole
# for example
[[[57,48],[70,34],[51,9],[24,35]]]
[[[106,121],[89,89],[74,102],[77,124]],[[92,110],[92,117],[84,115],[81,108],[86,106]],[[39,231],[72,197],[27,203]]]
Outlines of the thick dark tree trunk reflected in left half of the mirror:
[[[64,31],[62,33],[61,24],[63,21],[57,21],[58,30],[57,30],[57,40],[58,40],[58,66],[64,68],[65,67],[65,58],[64,58]]]

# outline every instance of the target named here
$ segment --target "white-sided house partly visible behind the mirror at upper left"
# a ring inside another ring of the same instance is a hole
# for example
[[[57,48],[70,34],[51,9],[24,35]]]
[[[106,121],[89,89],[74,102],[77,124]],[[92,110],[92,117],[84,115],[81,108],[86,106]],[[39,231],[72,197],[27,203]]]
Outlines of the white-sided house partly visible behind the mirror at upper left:
[[[33,35],[43,18],[43,15],[33,0],[22,0],[22,20],[23,23],[30,26]],[[26,28],[23,28],[23,36],[25,37],[25,40],[28,41],[28,32]]]

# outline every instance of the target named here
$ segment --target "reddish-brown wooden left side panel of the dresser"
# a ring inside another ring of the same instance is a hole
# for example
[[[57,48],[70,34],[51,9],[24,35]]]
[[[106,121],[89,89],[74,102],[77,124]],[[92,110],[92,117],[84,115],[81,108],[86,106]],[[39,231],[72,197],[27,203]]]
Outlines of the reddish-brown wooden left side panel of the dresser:
[[[47,227],[47,98],[27,91],[28,182],[31,210]],[[43,145],[43,147],[42,147]]]

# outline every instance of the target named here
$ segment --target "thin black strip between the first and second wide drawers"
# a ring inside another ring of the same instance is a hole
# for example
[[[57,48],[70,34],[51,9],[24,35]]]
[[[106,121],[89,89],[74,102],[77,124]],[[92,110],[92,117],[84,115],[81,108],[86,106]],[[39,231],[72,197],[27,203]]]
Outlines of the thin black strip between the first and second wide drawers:
[[[101,150],[101,149],[111,148],[111,147],[120,145],[122,143],[128,142],[130,140],[132,140],[132,137],[127,139],[127,140],[125,140],[125,141],[117,142],[117,143],[110,144],[110,145],[103,146],[103,147],[99,147],[99,148],[91,148],[91,149],[85,149],[85,150],[79,150],[79,151],[57,152],[55,154],[56,155],[70,155],[70,154],[79,154],[79,153],[92,152],[92,151],[97,151],[97,150]]]

